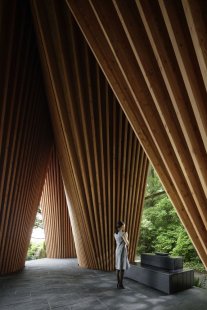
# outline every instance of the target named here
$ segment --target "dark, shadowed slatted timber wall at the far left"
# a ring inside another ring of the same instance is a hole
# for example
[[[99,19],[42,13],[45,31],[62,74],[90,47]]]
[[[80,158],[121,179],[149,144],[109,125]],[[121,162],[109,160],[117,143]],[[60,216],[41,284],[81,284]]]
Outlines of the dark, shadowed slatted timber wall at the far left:
[[[24,267],[52,134],[28,6],[0,10],[0,274]]]

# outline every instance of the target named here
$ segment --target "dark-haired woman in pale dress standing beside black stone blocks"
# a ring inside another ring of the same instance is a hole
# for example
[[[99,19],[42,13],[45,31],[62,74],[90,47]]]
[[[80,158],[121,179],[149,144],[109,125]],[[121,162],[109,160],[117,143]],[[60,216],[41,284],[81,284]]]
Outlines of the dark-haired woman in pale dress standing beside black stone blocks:
[[[124,288],[123,277],[124,270],[130,267],[127,255],[127,246],[129,245],[128,234],[125,232],[125,223],[119,221],[116,225],[114,234],[116,240],[116,274],[117,288]]]

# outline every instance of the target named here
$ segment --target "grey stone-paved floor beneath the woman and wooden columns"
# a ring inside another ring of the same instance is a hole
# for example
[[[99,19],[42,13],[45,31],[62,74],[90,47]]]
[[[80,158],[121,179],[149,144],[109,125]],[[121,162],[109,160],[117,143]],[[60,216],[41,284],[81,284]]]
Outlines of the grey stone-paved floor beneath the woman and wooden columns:
[[[125,279],[116,288],[114,272],[81,269],[75,259],[41,259],[22,273],[0,277],[0,310],[207,310],[207,291],[166,295]]]

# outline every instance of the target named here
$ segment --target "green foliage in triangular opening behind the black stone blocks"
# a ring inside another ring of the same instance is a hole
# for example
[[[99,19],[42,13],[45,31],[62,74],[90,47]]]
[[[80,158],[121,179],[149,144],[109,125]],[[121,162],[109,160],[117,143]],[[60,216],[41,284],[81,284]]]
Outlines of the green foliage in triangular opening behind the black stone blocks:
[[[146,195],[137,254],[168,252],[173,256],[183,256],[190,268],[204,270],[153,167],[148,175]]]

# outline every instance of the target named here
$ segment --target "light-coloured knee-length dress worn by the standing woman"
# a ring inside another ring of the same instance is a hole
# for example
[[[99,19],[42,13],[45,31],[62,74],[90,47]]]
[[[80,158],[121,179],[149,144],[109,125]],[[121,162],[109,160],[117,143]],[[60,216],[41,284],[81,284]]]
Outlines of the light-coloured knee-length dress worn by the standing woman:
[[[119,231],[118,234],[114,234],[116,240],[116,257],[115,257],[115,267],[118,270],[126,270],[130,267],[127,246],[122,238],[123,232]]]

